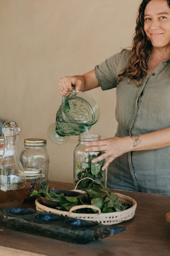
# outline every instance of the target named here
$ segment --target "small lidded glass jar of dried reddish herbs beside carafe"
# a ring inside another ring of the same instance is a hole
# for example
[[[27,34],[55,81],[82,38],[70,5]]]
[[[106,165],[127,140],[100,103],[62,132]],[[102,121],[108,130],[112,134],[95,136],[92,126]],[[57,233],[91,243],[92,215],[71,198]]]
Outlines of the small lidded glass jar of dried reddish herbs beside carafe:
[[[24,167],[25,178],[26,178],[26,201],[35,201],[36,197],[30,197],[33,190],[40,190],[41,181],[41,169]]]

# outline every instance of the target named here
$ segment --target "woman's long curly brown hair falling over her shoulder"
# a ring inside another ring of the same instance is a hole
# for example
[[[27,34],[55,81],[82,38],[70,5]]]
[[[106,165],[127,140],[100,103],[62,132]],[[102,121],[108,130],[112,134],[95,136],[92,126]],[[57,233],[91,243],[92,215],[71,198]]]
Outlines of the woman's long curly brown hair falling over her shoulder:
[[[152,52],[153,47],[144,31],[144,12],[146,5],[150,1],[152,0],[143,0],[139,7],[135,34],[132,42],[132,54],[129,57],[129,65],[124,69],[122,74],[118,75],[118,83],[124,76],[127,76],[129,83],[131,79],[137,82],[138,86],[140,86],[140,80],[147,76],[149,54]],[[167,0],[167,2],[170,7],[170,0]]]

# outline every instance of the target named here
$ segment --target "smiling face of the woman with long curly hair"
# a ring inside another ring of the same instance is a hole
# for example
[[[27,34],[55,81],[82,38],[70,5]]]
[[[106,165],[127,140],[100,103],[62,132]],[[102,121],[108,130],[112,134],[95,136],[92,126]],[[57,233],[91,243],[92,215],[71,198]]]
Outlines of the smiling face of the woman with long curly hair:
[[[167,48],[170,43],[170,7],[166,0],[152,0],[145,8],[144,31],[153,48]]]

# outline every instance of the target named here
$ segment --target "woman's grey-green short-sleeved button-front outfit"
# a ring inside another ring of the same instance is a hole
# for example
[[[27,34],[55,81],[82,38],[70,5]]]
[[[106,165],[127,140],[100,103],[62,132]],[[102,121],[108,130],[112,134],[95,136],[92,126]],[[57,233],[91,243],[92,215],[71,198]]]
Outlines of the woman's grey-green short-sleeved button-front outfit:
[[[170,126],[170,60],[162,61],[138,87],[117,76],[129,63],[123,49],[95,67],[102,90],[116,88],[115,136],[150,133]],[[108,166],[107,186],[115,189],[170,195],[170,147],[134,151],[117,157]]]

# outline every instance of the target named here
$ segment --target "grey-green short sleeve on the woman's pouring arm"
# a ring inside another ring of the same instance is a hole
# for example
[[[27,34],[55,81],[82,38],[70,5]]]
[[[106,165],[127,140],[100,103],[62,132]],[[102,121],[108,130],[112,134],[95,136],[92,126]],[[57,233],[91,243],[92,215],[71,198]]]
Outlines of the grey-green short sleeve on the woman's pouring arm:
[[[103,91],[117,87],[117,68],[120,56],[121,52],[109,57],[94,68],[96,78]]]

